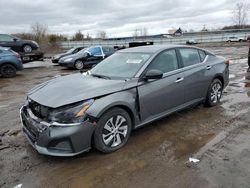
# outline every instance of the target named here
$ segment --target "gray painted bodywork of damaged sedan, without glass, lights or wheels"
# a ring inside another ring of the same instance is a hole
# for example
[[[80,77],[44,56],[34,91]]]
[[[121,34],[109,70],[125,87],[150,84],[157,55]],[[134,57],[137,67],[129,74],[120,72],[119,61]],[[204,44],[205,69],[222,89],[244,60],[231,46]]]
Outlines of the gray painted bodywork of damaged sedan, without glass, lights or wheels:
[[[143,75],[146,66],[161,51],[183,46],[150,46],[121,50],[120,52],[152,53],[152,57],[138,74],[131,80],[109,80],[82,74],[73,74],[65,77],[54,78],[33,88],[28,97],[44,106],[58,108],[68,104],[95,99],[94,103],[86,111],[86,114],[100,118],[110,108],[119,106],[129,112],[134,123],[134,128],[140,127],[168,114],[179,111],[206,98],[209,84],[216,76],[221,76],[224,87],[229,81],[228,66],[224,64],[224,58],[208,55],[204,62],[189,67],[179,67],[178,70],[165,73],[163,78],[157,80],[145,80]],[[178,50],[177,50],[178,51]],[[211,69],[207,69],[211,66]],[[176,82],[183,78],[181,82]],[[24,112],[21,110],[21,114]],[[88,121],[85,121],[86,123]],[[94,122],[92,122],[94,123]],[[94,126],[92,124],[89,125]],[[72,131],[73,129],[69,129]],[[58,138],[63,138],[64,131],[52,129]],[[88,150],[91,145],[91,137],[94,130],[81,132],[82,137],[72,137],[70,132],[67,138],[72,139],[75,153],[50,153],[46,150],[46,140],[38,138],[36,149],[43,154],[69,156]],[[40,139],[40,140],[39,140]],[[46,138],[50,139],[50,137]],[[79,145],[80,144],[80,145]],[[84,147],[83,147],[84,146]],[[42,147],[42,149],[39,147]]]

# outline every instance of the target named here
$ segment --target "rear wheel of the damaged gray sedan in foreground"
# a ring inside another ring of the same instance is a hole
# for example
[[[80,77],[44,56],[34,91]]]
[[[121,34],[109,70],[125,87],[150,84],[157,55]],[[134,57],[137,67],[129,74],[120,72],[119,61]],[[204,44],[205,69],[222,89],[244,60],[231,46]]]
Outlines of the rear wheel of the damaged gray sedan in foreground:
[[[206,106],[212,107],[216,106],[221,99],[223,91],[222,83],[219,79],[214,79],[210,84],[206,97]]]

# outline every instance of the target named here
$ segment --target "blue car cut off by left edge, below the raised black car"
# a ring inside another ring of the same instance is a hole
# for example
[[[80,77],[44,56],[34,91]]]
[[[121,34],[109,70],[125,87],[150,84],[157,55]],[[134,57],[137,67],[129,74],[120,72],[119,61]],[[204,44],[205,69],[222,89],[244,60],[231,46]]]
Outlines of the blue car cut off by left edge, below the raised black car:
[[[0,47],[0,75],[6,78],[14,77],[16,71],[23,69],[20,55],[10,48]]]

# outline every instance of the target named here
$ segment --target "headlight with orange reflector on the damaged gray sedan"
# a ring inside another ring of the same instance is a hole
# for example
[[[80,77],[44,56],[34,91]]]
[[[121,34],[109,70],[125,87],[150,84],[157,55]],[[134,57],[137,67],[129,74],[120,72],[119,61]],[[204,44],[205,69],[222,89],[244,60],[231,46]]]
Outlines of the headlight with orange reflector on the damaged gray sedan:
[[[74,106],[67,106],[57,109],[50,113],[49,120],[52,124],[77,124],[84,120],[86,110],[93,104],[94,100],[90,99]]]

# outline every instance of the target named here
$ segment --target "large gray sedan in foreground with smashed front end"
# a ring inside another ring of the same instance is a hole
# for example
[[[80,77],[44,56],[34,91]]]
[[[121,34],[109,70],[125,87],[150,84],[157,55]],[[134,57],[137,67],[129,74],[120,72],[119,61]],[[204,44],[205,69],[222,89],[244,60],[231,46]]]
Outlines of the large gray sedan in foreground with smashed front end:
[[[217,105],[228,67],[224,58],[195,47],[120,50],[85,74],[33,88],[20,111],[23,131],[41,154],[73,156],[93,146],[113,152],[133,129],[191,105]]]

